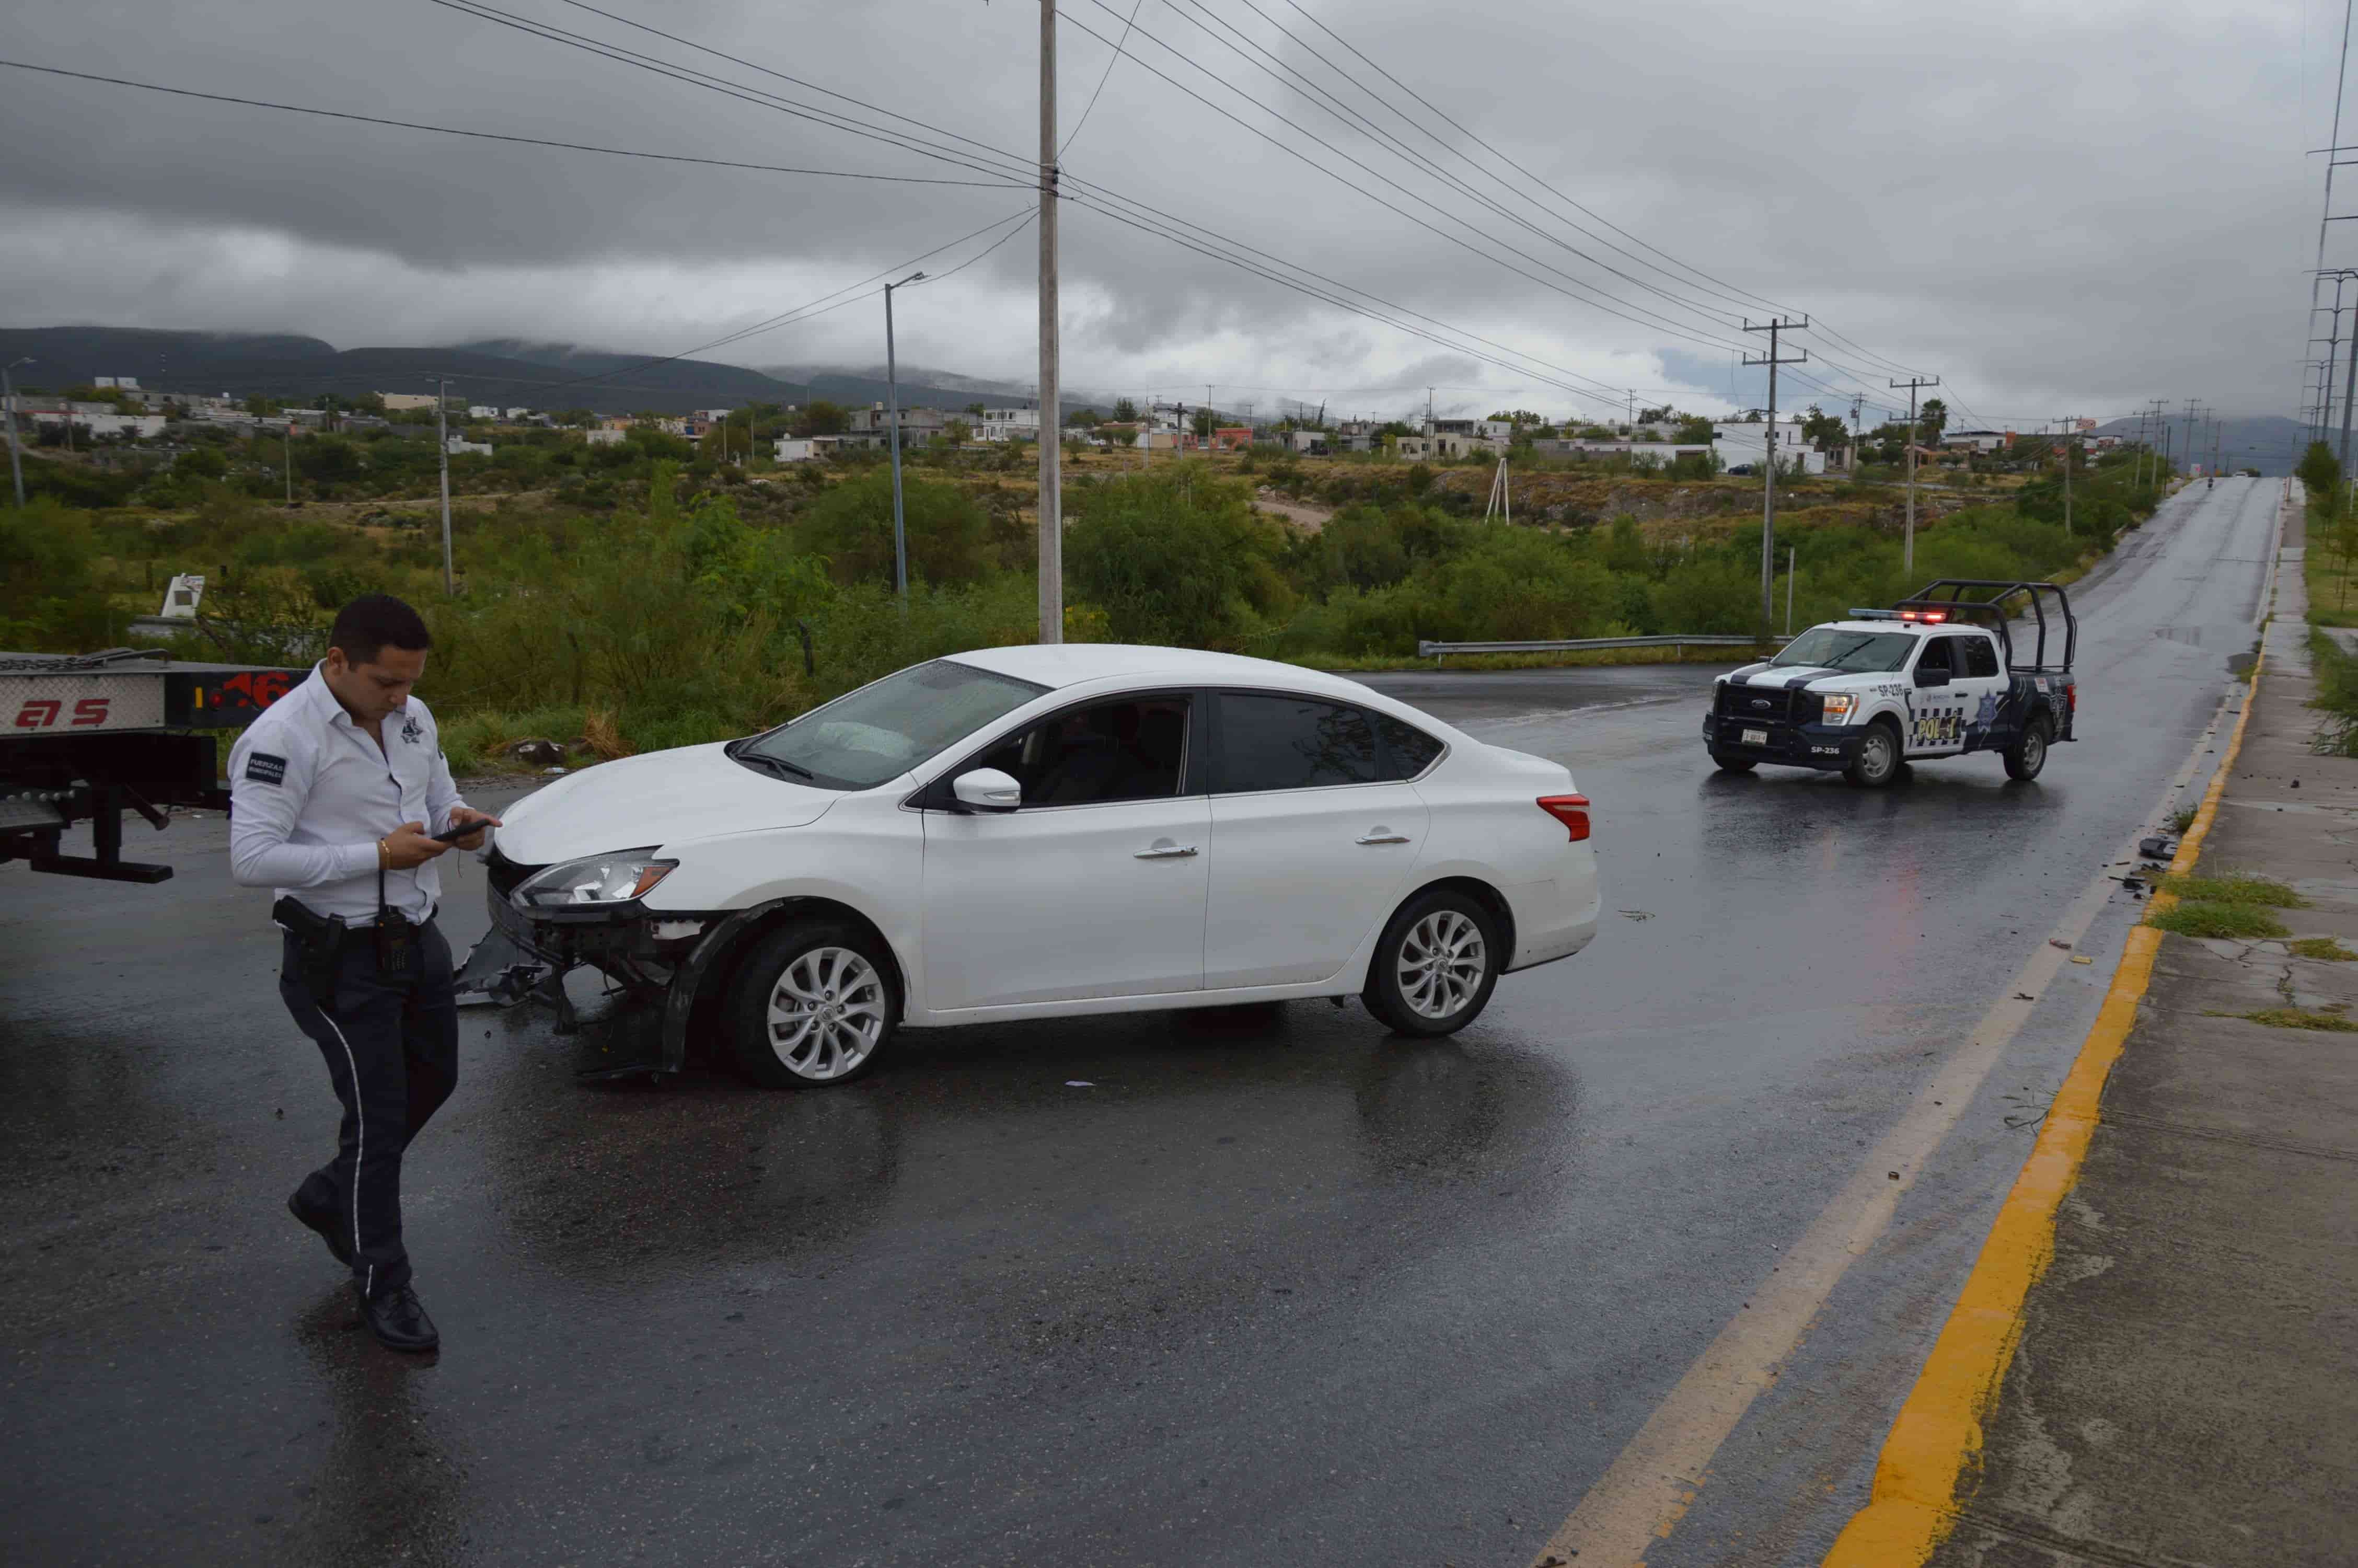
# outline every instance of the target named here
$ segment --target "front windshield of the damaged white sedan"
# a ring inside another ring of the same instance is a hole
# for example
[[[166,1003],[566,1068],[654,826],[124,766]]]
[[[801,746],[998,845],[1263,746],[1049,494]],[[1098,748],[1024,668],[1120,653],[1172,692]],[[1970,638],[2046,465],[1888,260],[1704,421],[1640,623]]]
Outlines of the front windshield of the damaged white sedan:
[[[814,707],[766,736],[738,740],[729,755],[797,783],[868,790],[1042,691],[1047,686],[936,658]]]

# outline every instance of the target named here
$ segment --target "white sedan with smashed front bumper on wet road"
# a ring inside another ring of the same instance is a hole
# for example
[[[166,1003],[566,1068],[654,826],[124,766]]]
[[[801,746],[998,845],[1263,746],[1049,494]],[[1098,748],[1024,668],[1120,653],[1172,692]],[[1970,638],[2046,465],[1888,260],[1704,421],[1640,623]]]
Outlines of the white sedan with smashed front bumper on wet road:
[[[1589,802],[1356,681],[1188,648],[979,648],[519,802],[495,927],[832,1085],[896,1028],[1358,995],[1445,1035],[1596,934]],[[556,995],[549,990],[547,995]]]

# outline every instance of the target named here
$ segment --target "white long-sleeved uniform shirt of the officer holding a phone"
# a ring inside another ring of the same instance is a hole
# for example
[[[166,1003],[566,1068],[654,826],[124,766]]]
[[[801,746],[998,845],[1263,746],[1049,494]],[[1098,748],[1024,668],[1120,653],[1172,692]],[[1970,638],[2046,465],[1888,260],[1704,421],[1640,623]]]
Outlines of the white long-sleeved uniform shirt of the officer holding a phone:
[[[427,832],[465,806],[417,698],[380,726],[384,750],[351,722],[318,665],[271,703],[229,750],[229,872],[238,887],[292,894],[314,915],[377,917],[377,839],[401,823]],[[384,903],[424,920],[441,901],[441,861],[384,872]]]

